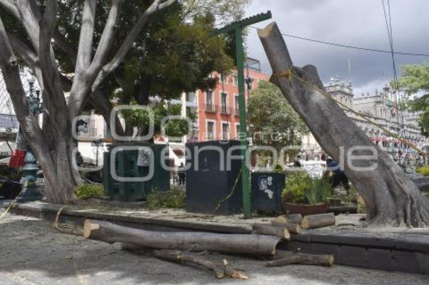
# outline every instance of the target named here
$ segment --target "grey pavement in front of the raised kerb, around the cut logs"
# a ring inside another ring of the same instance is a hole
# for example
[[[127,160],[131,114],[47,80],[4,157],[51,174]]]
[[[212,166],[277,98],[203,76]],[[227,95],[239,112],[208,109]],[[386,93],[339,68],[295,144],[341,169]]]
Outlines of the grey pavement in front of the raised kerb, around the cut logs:
[[[335,265],[266,268],[260,260],[213,254],[243,270],[249,280],[216,279],[211,272],[121,251],[116,245],[53,230],[30,217],[0,221],[0,284],[429,284],[428,275]]]

